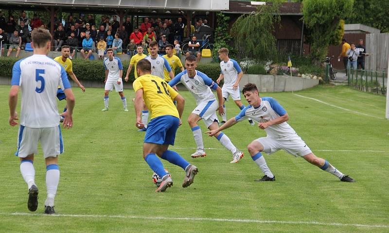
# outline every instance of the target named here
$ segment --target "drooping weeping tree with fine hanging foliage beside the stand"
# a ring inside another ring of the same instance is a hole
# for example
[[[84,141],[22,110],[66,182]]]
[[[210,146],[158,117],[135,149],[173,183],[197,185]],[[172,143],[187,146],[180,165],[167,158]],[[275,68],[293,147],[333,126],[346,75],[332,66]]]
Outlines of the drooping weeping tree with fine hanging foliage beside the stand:
[[[257,7],[256,12],[240,16],[231,28],[238,55],[260,59],[277,53],[274,24],[281,20],[280,3]]]

